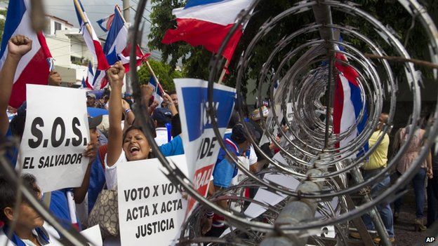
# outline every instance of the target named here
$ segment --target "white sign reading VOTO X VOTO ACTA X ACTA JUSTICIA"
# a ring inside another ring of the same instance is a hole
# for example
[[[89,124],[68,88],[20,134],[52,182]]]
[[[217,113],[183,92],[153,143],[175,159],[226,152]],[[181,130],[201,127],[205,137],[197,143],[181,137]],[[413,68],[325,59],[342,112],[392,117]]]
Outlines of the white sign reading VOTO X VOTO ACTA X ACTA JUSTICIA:
[[[185,156],[171,156],[187,175]],[[172,245],[179,237],[187,200],[160,170],[160,161],[117,164],[121,245]]]

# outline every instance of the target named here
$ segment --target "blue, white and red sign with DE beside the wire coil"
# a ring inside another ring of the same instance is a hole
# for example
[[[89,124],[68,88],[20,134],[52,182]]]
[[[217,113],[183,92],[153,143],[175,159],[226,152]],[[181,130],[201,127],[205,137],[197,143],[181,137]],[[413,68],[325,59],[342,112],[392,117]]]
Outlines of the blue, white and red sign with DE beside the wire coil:
[[[208,184],[213,173],[213,168],[218,158],[220,145],[213,131],[211,119],[207,115],[208,82],[194,78],[175,79],[175,88],[181,118],[181,138],[183,139],[185,156],[189,171],[189,179],[194,188],[202,196],[206,196]],[[236,90],[227,86],[215,84],[213,87],[213,107],[216,112],[216,122],[223,137],[227,129]],[[186,217],[192,212],[196,200],[190,197],[187,205]]]

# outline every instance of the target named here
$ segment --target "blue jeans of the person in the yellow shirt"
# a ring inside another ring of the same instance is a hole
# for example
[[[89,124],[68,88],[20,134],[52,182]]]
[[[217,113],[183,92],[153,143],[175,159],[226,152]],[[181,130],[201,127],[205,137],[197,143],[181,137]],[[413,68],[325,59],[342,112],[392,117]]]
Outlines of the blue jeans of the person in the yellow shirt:
[[[377,175],[380,172],[380,170],[376,171],[364,171],[364,179],[370,179],[374,175]],[[371,187],[371,197],[375,198],[376,196],[380,195],[385,189],[387,189],[390,186],[391,178],[390,175],[385,174],[385,178],[375,184],[373,187]],[[385,225],[386,231],[390,238],[394,238],[394,221],[392,218],[392,210],[390,203],[387,203],[386,201],[383,201],[383,203],[378,204],[377,210],[380,214],[380,217],[382,218],[383,224]],[[369,214],[362,215],[362,220],[364,221],[364,224],[368,230],[374,231],[374,224],[371,220],[371,217]]]

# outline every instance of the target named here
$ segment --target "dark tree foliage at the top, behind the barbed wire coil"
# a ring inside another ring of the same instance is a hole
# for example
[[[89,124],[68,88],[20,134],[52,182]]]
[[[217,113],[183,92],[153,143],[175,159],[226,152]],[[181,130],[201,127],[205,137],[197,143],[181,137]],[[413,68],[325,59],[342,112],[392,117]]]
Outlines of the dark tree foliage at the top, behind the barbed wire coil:
[[[166,45],[161,43],[167,29],[175,29],[176,22],[175,17],[172,15],[173,8],[180,8],[185,5],[186,0],[152,0],[152,13],[150,20],[152,22],[152,29],[150,33],[151,49],[161,50],[163,60],[169,60],[172,67],[175,67],[178,60],[182,60],[184,67],[183,70],[187,73],[187,76],[194,78],[208,79],[208,61],[211,58],[209,53],[204,48],[197,46],[192,47],[185,42],[172,43]],[[239,46],[235,52],[234,57],[240,54],[248,44],[251,42],[255,34],[260,30],[260,27],[270,18],[278,15],[287,8],[293,7],[298,1],[289,0],[276,0],[276,1],[260,1],[257,8],[254,11],[254,15],[246,26],[244,36],[242,36]],[[420,22],[412,22],[412,16],[397,3],[397,1],[385,1],[385,0],[357,0],[354,3],[360,4],[359,6],[364,11],[370,13],[377,18],[383,25],[392,27],[394,34],[396,34],[399,40],[403,43],[406,40],[407,46],[410,48],[409,53],[413,54],[418,59],[428,60],[427,49],[427,36],[423,32]],[[438,15],[438,1],[424,0],[423,4],[426,6],[432,18],[437,18]],[[251,53],[251,62],[248,64],[248,71],[245,74],[245,78],[257,78],[260,69],[266,62],[267,57],[277,43],[284,38],[284,36],[291,34],[293,30],[300,29],[303,24],[310,24],[314,22],[312,11],[305,13],[299,13],[298,15],[289,16],[275,27],[274,32],[270,32],[267,36],[258,43],[258,45]],[[387,43],[378,36],[374,28],[368,23],[364,23],[363,18],[359,18],[350,13],[342,13],[340,11],[333,11],[333,22],[344,26],[360,27],[359,32],[365,36],[369,36],[371,40],[379,41],[378,45],[387,48]],[[413,28],[410,29],[412,23]],[[315,33],[317,35],[317,32]],[[303,36],[296,39],[295,44],[302,44],[305,41],[309,41],[312,38],[318,36]],[[406,39],[406,37],[408,37]],[[354,38],[345,39],[346,42],[352,43],[352,45],[359,50],[364,48],[366,44]],[[288,48],[294,48],[292,43]],[[291,49],[284,48],[284,53],[280,53],[277,57],[274,57],[273,64],[279,64],[286,54]],[[296,48],[296,47],[295,47]],[[366,50],[366,49],[365,49]],[[292,64],[290,64],[292,65]],[[237,67],[237,58],[234,58],[230,64],[231,74],[227,76],[226,84],[234,86],[235,83],[235,71]],[[394,71],[397,74],[397,71]]]

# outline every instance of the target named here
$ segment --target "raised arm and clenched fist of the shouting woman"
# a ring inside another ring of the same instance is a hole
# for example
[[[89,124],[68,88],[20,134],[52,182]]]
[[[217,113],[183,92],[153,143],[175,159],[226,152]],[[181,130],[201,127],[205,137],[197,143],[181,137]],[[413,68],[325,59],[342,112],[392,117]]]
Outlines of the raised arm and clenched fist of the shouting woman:
[[[125,76],[125,68],[121,62],[117,62],[107,71],[110,79],[111,95],[110,95],[110,130],[108,132],[108,152],[107,165],[114,165],[121,154],[123,146],[123,132],[121,130],[121,86],[123,86],[123,78]]]

